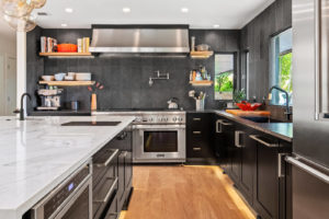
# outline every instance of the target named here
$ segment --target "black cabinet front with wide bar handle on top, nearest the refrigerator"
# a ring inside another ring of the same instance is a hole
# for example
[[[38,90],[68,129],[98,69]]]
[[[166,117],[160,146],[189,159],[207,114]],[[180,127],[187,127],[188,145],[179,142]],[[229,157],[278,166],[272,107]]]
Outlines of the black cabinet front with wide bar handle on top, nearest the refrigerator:
[[[276,219],[280,218],[279,142],[276,139],[261,135],[251,135],[251,138],[257,141],[257,191],[254,206],[263,219]]]

